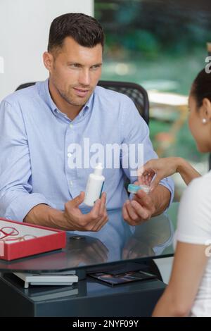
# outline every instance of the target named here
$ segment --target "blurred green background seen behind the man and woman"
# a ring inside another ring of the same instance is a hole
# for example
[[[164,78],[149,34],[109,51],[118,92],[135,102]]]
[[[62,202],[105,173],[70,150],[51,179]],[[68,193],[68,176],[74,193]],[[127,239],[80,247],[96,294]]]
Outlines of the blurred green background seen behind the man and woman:
[[[211,1],[95,0],[94,11],[106,32],[102,79],[137,82],[148,92],[171,93],[173,99],[174,94],[188,95],[205,67]],[[200,173],[207,172],[208,156],[196,149],[185,106],[153,101],[150,118],[151,139],[160,157],[181,156]],[[179,200],[185,185],[179,175],[174,181],[174,199]]]

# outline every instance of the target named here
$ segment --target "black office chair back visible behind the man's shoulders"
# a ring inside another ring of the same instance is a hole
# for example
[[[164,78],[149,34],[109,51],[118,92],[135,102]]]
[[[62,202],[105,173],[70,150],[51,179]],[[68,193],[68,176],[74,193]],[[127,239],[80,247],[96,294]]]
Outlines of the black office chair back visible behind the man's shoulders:
[[[18,86],[18,89],[24,89],[25,87],[30,87],[34,85],[35,82],[28,82]],[[116,92],[120,92],[122,94],[126,94],[129,96],[136,108],[138,109],[140,115],[143,120],[146,121],[147,125],[149,122],[149,102],[148,102],[148,94],[146,89],[144,89],[141,85],[135,84],[133,82],[115,82],[112,80],[100,80],[98,82],[98,86],[105,87],[106,89],[113,89]]]

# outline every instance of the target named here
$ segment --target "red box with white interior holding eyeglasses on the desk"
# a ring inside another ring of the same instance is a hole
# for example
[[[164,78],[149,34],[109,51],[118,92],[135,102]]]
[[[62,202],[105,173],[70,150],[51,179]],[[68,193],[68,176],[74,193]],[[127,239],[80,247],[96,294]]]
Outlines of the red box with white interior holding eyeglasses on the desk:
[[[5,233],[2,233],[2,228],[5,227],[15,228],[18,230],[18,235],[14,235],[16,232],[13,230],[10,232],[13,235],[5,237]],[[31,239],[28,239],[29,237]],[[65,231],[0,218],[0,259],[11,261],[46,251],[63,249],[65,246]]]

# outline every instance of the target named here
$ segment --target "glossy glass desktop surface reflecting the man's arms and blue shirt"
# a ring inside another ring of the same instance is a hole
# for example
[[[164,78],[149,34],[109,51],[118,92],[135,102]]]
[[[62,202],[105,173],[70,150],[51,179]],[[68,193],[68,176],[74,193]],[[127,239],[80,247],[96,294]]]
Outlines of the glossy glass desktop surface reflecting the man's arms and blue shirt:
[[[68,232],[67,246],[39,256],[0,261],[0,270],[56,272],[83,266],[162,255],[172,243],[173,227],[166,213],[132,227],[122,210],[108,211],[108,223],[99,232]],[[173,253],[173,250],[172,250]]]

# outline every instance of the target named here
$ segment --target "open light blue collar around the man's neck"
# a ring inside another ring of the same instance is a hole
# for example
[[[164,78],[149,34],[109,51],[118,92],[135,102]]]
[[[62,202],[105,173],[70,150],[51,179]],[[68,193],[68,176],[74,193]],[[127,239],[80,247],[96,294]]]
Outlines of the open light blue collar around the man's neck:
[[[58,113],[60,115],[63,115],[63,117],[68,118],[67,115],[65,115],[64,113],[62,113],[56,106],[56,104],[54,103],[53,99],[51,98],[51,94],[49,92],[49,78],[47,78],[44,82],[42,82],[41,84],[41,94],[44,98],[44,101],[46,102],[46,104],[49,106],[49,108],[51,109],[52,113],[54,115],[58,115]],[[85,113],[87,113],[88,111],[91,110],[92,105],[93,105],[93,101],[94,101],[94,92],[91,94],[91,96],[89,97],[89,100],[87,101],[87,103],[84,105],[84,107],[82,108],[82,110],[79,112],[79,114],[77,115],[77,117],[82,118],[82,116],[85,115]],[[70,120],[70,118],[68,118],[68,120]]]

